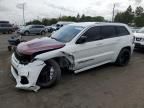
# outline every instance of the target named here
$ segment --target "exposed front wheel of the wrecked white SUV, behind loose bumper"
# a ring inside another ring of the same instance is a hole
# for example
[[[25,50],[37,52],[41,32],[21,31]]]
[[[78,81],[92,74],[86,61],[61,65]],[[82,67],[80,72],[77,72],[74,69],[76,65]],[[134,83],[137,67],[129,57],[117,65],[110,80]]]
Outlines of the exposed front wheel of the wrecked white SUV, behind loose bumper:
[[[60,66],[55,60],[48,60],[46,62],[46,66],[42,69],[38,77],[37,85],[42,88],[51,87],[52,85],[56,84],[60,80],[60,78],[61,78]]]

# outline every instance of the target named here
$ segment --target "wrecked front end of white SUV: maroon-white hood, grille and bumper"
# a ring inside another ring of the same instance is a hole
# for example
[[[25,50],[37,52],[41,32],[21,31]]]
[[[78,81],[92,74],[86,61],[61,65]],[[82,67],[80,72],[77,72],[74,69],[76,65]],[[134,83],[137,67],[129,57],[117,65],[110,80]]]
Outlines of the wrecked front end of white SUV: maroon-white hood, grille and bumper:
[[[46,66],[44,60],[48,58],[36,57],[64,46],[64,43],[48,37],[20,43],[11,58],[11,72],[17,82],[16,88],[33,91],[40,89],[37,80]]]

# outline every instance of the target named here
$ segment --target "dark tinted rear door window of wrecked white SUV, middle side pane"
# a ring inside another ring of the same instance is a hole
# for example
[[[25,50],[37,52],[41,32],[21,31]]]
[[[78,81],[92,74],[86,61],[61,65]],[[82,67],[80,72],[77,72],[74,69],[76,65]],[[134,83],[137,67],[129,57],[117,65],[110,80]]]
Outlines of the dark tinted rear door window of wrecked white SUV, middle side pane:
[[[114,26],[102,26],[101,27],[101,36],[103,38],[111,38],[117,35],[116,28]]]

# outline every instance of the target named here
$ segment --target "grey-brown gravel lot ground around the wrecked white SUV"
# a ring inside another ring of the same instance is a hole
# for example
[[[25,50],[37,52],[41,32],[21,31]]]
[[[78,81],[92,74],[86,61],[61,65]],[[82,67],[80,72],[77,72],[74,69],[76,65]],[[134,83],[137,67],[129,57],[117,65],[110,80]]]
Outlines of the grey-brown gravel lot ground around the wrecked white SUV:
[[[144,108],[144,51],[126,67],[107,64],[80,74],[63,73],[58,85],[29,92],[15,89],[7,40],[0,35],[0,108]],[[40,36],[29,36],[32,39]]]

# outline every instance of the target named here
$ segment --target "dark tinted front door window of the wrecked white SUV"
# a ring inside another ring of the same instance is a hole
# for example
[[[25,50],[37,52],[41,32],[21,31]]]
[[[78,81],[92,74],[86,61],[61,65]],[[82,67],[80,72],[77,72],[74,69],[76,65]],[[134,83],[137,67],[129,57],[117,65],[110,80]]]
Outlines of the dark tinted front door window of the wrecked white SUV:
[[[83,35],[87,37],[87,42],[99,40],[101,39],[100,27],[92,27],[87,30]]]

